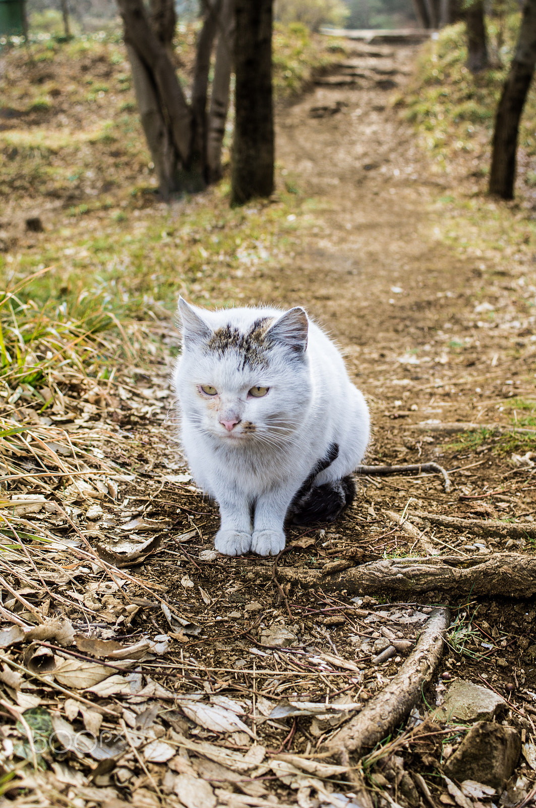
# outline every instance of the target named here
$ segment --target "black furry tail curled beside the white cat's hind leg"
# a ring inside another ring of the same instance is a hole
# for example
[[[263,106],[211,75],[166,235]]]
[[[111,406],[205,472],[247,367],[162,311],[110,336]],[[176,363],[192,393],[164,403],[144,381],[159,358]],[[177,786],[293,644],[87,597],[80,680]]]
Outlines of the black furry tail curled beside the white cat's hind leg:
[[[327,456],[318,461],[292,499],[287,512],[288,521],[293,524],[334,522],[341,511],[354,501],[355,484],[351,477],[325,482],[321,486],[314,485],[320,471],[327,469],[337,459],[338,454],[337,444],[331,444]]]

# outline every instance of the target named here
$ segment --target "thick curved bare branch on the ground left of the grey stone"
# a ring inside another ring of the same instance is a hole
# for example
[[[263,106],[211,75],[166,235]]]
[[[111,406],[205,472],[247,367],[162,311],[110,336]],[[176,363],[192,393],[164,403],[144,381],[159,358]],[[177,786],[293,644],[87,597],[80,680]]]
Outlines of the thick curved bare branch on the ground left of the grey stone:
[[[364,709],[338,730],[327,744],[328,750],[341,759],[347,751],[361,756],[374,747],[404,721],[421,698],[421,688],[433,678],[443,649],[443,639],[450,624],[448,608],[434,609],[415,650],[400,671]]]

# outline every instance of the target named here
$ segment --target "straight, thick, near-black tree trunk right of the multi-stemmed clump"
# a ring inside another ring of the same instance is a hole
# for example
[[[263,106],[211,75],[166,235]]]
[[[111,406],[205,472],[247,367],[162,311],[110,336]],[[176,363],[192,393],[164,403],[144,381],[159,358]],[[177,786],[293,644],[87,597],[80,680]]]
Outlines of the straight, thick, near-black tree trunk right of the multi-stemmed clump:
[[[232,204],[274,190],[273,0],[235,0],[235,131]]]

